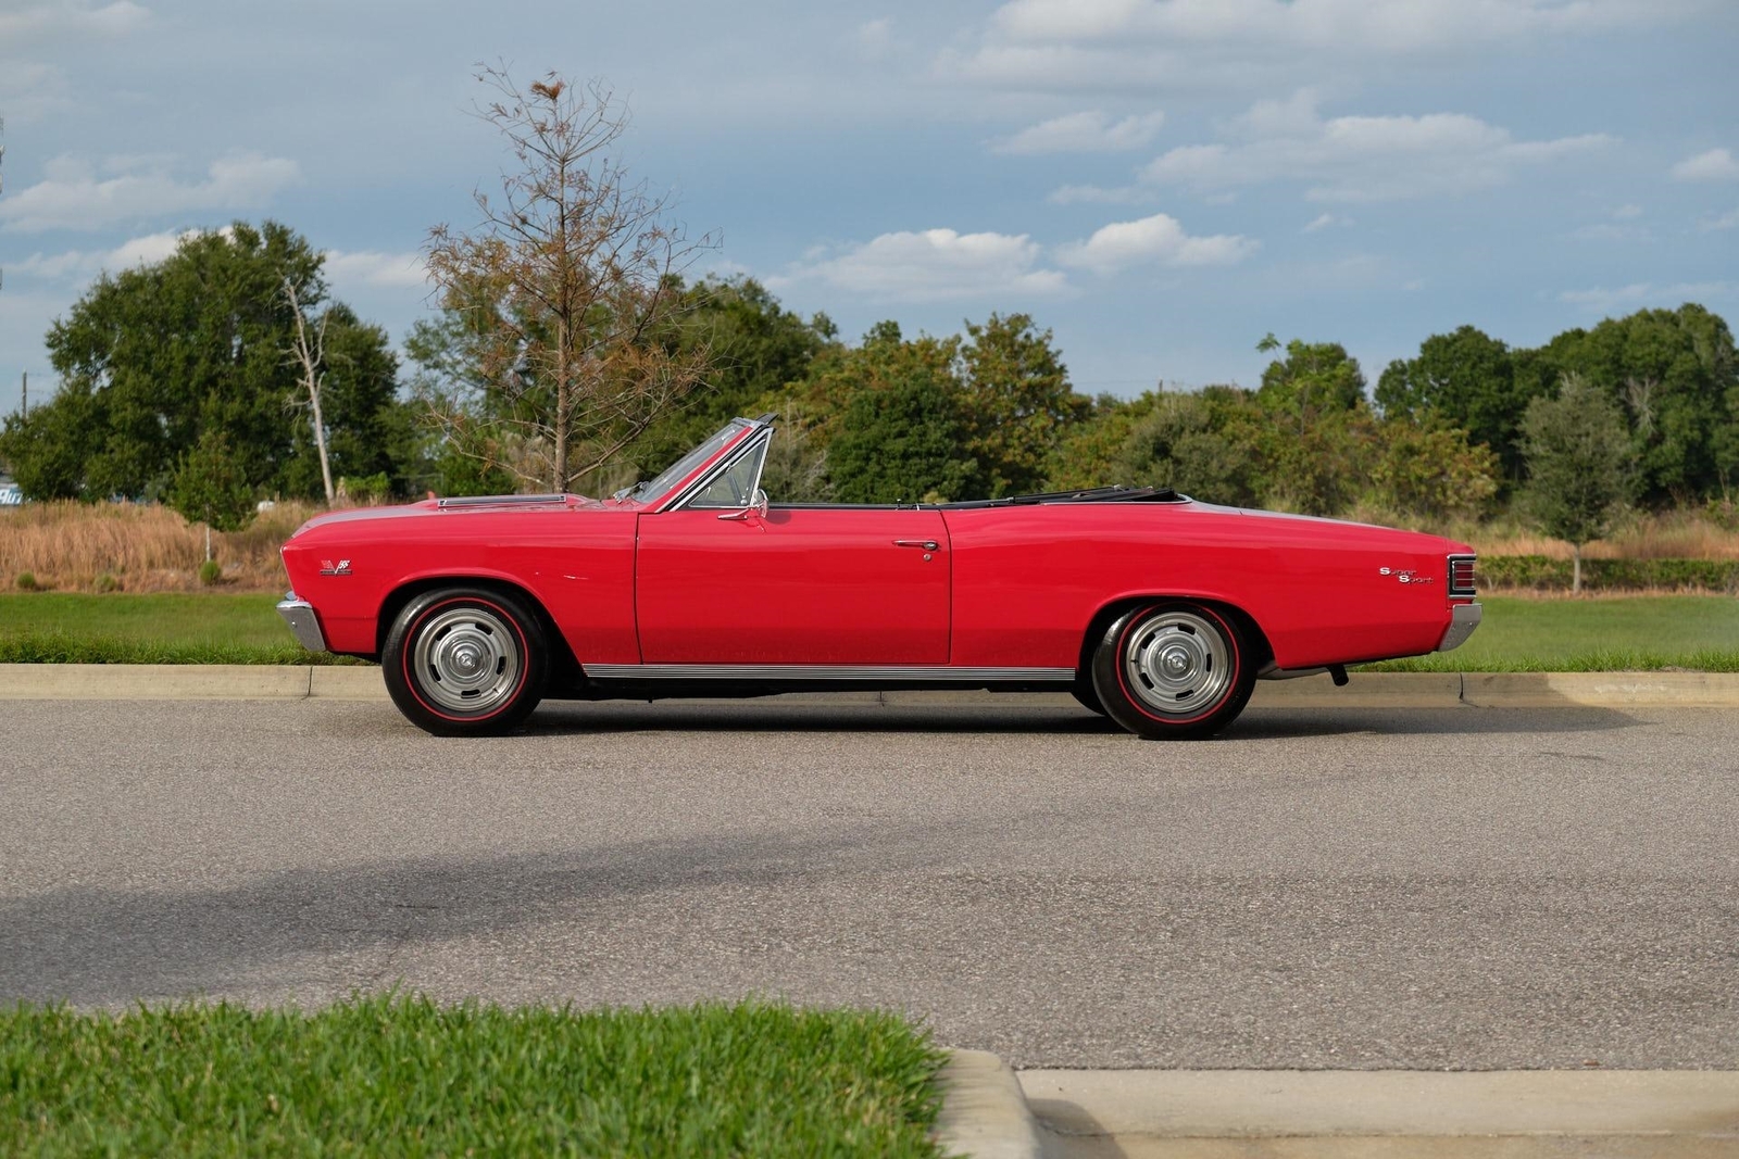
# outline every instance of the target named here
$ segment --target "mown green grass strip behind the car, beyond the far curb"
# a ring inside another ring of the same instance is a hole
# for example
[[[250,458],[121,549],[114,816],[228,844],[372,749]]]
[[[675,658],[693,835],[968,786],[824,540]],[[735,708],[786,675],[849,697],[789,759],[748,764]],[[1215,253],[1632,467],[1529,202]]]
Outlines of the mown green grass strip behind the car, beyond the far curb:
[[[310,664],[277,596],[0,594],[0,662]],[[1429,672],[1689,667],[1739,672],[1739,599],[1485,596],[1485,622],[1456,652],[1374,666]]]

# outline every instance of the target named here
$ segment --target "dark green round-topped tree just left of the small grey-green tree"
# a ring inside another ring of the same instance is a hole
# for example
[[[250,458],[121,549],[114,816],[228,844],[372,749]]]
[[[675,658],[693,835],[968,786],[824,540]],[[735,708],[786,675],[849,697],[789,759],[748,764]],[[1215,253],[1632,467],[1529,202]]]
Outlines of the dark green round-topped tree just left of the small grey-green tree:
[[[1461,427],[1473,443],[1490,447],[1511,478],[1522,476],[1522,412],[1539,384],[1518,377],[1509,348],[1476,327],[1433,334],[1419,356],[1395,360],[1377,379],[1376,400],[1384,417],[1428,421],[1433,415]]]

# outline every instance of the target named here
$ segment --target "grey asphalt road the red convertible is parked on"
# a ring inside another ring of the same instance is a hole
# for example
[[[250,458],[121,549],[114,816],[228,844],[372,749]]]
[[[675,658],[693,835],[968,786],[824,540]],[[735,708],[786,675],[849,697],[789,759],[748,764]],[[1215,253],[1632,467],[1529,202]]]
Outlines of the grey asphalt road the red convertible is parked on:
[[[1021,1067],[1739,1067],[1739,712],[0,705],[0,1001],[911,1011]]]

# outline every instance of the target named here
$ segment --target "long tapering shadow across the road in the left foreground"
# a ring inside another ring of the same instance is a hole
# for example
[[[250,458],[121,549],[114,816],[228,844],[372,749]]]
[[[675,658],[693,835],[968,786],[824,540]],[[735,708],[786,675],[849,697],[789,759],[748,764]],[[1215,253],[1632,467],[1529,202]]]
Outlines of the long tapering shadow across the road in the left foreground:
[[[499,945],[534,924],[607,928],[612,916],[692,890],[814,884],[817,874],[868,872],[958,829],[948,818],[875,832],[772,827],[534,855],[303,865],[228,886],[68,884],[0,898],[0,1006],[297,992],[325,1001],[395,985],[416,945]]]

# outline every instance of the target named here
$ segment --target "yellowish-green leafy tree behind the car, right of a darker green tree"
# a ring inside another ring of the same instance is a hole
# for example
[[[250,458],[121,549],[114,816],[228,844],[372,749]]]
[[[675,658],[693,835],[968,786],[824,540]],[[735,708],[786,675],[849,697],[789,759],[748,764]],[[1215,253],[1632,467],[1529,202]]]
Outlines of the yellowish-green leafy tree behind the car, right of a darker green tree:
[[[960,346],[965,454],[977,460],[991,499],[1042,490],[1052,448],[1083,421],[1092,400],[1069,386],[1050,330],[1028,315],[967,321]]]

